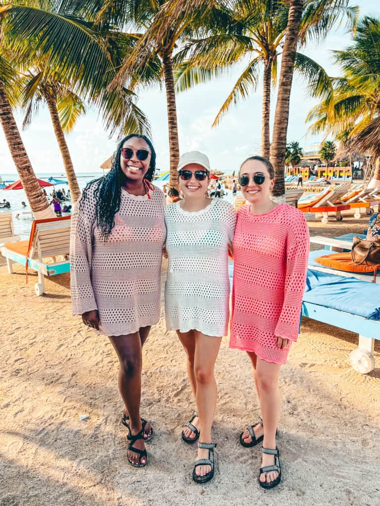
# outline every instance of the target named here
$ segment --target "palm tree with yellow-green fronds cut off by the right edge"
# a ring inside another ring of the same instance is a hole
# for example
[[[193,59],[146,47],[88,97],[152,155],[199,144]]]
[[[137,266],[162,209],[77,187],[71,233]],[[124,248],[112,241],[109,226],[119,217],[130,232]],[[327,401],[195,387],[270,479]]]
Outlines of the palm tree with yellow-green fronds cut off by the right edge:
[[[338,139],[350,132],[352,148],[369,151],[375,171],[368,187],[380,186],[380,19],[364,17],[358,22],[353,44],[335,51],[343,76],[331,78],[331,92],[309,113],[313,133],[325,132]]]

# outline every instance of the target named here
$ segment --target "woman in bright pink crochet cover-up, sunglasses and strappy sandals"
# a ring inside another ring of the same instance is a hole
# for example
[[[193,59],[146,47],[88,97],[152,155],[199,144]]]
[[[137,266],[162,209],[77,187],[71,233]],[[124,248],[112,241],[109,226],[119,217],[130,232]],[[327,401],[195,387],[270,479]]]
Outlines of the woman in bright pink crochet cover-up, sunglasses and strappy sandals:
[[[246,200],[237,213],[233,241],[234,283],[230,347],[247,352],[261,408],[259,422],[240,435],[244,447],[263,442],[258,483],[281,480],[276,446],[281,365],[297,340],[309,254],[302,213],[271,200],[274,168],[261,156],[247,158],[239,184]]]

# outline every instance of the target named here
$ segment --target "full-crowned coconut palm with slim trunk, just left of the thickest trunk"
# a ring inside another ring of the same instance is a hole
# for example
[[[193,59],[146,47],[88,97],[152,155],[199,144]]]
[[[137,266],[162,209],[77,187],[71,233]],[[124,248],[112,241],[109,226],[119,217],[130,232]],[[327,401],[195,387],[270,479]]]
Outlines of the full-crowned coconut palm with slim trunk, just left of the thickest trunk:
[[[269,157],[271,82],[273,85],[277,82],[277,62],[284,44],[289,6],[263,0],[234,0],[228,4],[226,25],[216,26],[204,39],[186,45],[188,59],[175,69],[176,87],[179,91],[187,90],[220,75],[221,69],[230,71],[235,62],[247,59],[243,72],[217,113],[215,126],[232,104],[247,98],[257,88],[262,70],[261,154]],[[323,39],[342,15],[348,16],[352,24],[357,9],[348,7],[347,2],[305,2],[298,45],[305,45],[312,38]],[[297,53],[294,66],[313,89],[324,86],[327,76],[323,69],[306,55]]]

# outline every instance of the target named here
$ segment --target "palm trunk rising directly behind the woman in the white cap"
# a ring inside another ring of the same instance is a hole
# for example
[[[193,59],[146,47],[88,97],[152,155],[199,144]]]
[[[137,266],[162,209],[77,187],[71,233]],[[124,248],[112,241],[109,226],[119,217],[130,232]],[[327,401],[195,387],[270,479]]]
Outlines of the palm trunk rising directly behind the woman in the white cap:
[[[169,149],[170,149],[169,185],[170,187],[178,189],[177,166],[179,160],[179,142],[178,142],[177,109],[175,106],[173,63],[170,53],[163,52],[161,56],[164,67],[166,103],[168,108]]]

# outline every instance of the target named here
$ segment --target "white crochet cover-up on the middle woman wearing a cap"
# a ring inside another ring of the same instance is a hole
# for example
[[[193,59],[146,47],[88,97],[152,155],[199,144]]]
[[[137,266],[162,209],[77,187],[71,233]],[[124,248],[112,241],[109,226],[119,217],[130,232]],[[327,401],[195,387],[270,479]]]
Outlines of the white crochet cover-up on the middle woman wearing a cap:
[[[227,335],[230,279],[228,247],[234,237],[236,211],[218,198],[198,212],[180,202],[165,207],[168,272],[165,315],[168,330],[198,330]]]

